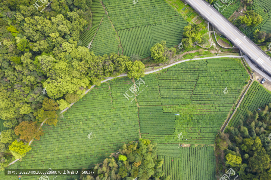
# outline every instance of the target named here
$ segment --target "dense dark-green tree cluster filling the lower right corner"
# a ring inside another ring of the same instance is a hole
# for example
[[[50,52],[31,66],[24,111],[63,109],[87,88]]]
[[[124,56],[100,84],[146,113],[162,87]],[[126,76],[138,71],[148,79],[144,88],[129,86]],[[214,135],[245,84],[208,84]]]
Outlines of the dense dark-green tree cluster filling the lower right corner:
[[[225,134],[219,134],[216,147],[226,155],[220,162],[220,170],[231,167],[239,173],[240,179],[271,179],[270,111],[270,103],[262,111],[252,113],[247,110],[248,119],[240,120],[238,128],[230,127]],[[223,163],[227,167],[223,168]]]

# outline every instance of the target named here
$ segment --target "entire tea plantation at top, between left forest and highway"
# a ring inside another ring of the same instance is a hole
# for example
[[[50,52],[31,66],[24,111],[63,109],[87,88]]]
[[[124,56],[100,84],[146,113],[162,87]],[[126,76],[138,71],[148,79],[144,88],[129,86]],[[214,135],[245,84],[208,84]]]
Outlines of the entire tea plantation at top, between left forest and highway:
[[[110,27],[107,15],[101,22],[102,15],[107,14],[102,3],[114,27]],[[146,58],[156,43],[166,41],[167,47],[178,45],[183,28],[187,26],[183,17],[164,0],[143,0],[136,4],[123,0],[94,0],[91,10],[92,27],[85,30],[80,39],[86,47],[93,40],[92,50],[96,55],[115,52]],[[116,38],[120,38],[120,44]]]

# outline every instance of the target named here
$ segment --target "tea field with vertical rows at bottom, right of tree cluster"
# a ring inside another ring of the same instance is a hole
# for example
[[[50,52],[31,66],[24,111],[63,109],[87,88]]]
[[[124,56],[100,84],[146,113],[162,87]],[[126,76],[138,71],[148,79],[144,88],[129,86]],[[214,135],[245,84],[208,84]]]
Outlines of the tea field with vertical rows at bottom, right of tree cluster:
[[[168,146],[168,149],[173,147]],[[171,176],[171,180],[215,180],[216,164],[213,146],[201,148],[174,147],[179,151],[179,156],[158,155],[164,163],[161,167],[163,172]],[[158,146],[158,151],[160,146]],[[165,150],[164,154],[167,154]]]

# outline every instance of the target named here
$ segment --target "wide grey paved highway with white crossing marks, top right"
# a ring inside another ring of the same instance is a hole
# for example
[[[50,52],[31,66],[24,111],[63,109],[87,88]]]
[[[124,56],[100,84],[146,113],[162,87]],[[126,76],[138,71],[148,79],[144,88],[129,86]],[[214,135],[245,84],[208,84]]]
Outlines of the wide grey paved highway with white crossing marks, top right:
[[[230,39],[239,49],[241,49],[258,66],[271,75],[271,58],[261,50],[254,42],[246,37],[237,27],[220,14],[212,5],[204,0],[185,0],[202,17],[216,27],[224,36]],[[227,4],[220,8],[220,11]]]

